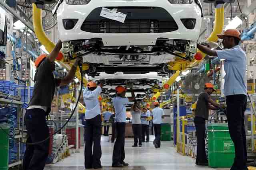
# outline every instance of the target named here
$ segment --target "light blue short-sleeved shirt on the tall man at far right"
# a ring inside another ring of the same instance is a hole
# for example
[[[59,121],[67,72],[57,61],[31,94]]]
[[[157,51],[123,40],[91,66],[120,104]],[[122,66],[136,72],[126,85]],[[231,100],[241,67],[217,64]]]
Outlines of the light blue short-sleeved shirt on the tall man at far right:
[[[216,52],[219,59],[225,59],[224,95],[246,95],[246,53],[239,45],[231,49],[216,50]]]

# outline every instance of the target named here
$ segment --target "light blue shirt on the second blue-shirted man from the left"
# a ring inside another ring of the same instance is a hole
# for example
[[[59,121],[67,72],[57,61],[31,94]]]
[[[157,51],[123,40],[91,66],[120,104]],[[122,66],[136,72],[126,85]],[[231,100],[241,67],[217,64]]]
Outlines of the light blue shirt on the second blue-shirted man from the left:
[[[126,104],[129,103],[128,98],[116,96],[112,99],[112,102],[116,112],[115,122],[126,123]]]

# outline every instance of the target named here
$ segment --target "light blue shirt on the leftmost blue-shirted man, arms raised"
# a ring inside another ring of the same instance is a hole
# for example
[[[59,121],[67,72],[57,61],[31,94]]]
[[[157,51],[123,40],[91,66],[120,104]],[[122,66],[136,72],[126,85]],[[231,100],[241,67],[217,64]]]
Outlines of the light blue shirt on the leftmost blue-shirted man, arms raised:
[[[102,89],[98,86],[95,90],[90,91],[87,88],[84,90],[84,103],[86,106],[85,119],[92,119],[97,115],[100,115],[100,103],[98,96]]]

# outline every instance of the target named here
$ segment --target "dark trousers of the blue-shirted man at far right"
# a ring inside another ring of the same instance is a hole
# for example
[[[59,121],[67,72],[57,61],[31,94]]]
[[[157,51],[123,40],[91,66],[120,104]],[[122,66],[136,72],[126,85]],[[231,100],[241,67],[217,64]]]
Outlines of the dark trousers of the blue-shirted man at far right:
[[[246,103],[246,95],[226,96],[228,128],[236,153],[231,170],[247,170],[246,134],[244,128]]]

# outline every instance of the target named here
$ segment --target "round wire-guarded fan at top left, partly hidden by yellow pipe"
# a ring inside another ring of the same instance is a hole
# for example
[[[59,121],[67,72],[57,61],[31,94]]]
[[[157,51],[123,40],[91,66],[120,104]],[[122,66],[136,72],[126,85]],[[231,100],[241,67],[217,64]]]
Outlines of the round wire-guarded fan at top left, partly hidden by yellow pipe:
[[[28,20],[32,20],[32,4],[18,4],[21,6],[20,10],[26,15]],[[42,25],[44,27],[44,31],[51,29],[57,24],[57,15],[52,15],[52,10],[56,6],[54,4],[45,4],[44,8],[42,8]],[[22,14],[21,14],[22,15]]]

